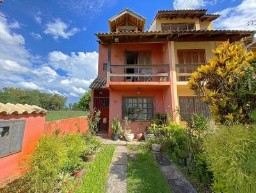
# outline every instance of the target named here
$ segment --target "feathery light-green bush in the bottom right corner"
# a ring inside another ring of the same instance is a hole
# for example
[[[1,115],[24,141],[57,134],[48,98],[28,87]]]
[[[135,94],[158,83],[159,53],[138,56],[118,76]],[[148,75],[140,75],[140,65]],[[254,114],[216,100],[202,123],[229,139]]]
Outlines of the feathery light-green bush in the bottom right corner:
[[[204,142],[215,192],[256,192],[256,126],[220,127]]]

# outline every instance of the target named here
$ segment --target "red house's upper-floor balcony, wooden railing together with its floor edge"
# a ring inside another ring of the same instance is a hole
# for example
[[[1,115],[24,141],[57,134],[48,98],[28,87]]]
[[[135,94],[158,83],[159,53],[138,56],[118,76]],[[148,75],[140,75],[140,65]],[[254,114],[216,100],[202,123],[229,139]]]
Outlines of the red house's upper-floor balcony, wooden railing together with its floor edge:
[[[108,65],[107,86],[170,86],[170,65]]]

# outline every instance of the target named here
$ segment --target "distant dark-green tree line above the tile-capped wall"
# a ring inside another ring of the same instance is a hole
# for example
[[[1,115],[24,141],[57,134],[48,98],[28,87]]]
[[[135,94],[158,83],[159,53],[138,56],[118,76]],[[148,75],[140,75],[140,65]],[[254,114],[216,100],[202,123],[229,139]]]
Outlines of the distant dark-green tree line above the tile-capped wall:
[[[1,103],[37,105],[48,111],[60,111],[65,107],[66,101],[66,96],[41,93],[38,90],[3,88],[0,91]]]

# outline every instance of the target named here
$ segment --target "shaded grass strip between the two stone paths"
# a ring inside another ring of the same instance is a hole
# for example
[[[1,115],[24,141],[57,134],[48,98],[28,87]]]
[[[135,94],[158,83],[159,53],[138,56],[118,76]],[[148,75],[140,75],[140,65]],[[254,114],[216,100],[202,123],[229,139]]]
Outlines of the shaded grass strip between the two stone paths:
[[[128,192],[171,192],[164,174],[150,151],[138,146],[127,146],[127,148],[137,153],[135,159],[128,159]]]

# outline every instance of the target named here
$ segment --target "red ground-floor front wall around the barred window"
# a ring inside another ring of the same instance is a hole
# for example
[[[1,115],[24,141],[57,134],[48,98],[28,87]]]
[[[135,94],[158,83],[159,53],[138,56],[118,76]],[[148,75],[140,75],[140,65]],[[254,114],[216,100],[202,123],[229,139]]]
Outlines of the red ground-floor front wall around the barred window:
[[[109,137],[111,137],[111,123],[115,116],[118,116],[121,120],[122,127],[124,128],[124,120],[122,120],[122,97],[123,96],[153,96],[154,98],[154,113],[164,112],[163,104],[163,89],[140,89],[140,95],[138,95],[138,88],[129,89],[129,90],[112,90],[109,92]],[[143,123],[143,126],[140,126],[138,123]],[[150,121],[132,121],[131,129],[136,134],[144,133],[145,127],[150,123]]]

